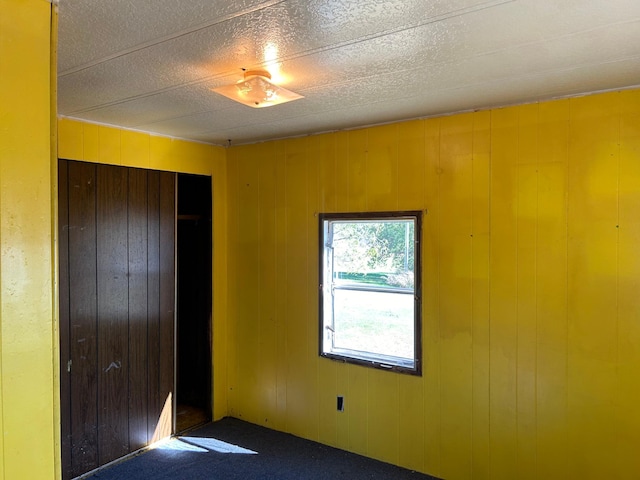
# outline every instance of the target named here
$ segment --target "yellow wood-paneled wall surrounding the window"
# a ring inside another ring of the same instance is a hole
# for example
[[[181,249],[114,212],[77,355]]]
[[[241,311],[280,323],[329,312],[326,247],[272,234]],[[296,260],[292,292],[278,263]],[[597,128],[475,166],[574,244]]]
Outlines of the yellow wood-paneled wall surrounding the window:
[[[227,158],[231,415],[447,480],[640,478],[640,91]],[[428,210],[421,378],[317,354],[316,214],[394,209]]]

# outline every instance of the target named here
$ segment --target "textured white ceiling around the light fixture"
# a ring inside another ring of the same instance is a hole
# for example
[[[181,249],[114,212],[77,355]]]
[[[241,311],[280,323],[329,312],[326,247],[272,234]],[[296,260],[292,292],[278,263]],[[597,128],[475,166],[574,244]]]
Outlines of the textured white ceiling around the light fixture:
[[[60,0],[60,115],[226,145],[640,85],[640,0]],[[304,95],[211,91],[266,68]]]

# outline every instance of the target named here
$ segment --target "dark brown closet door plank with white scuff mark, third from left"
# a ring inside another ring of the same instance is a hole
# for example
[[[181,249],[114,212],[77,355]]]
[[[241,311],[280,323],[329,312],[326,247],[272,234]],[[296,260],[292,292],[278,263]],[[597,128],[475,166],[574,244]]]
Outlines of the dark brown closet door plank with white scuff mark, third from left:
[[[127,169],[98,165],[98,448],[129,453]]]

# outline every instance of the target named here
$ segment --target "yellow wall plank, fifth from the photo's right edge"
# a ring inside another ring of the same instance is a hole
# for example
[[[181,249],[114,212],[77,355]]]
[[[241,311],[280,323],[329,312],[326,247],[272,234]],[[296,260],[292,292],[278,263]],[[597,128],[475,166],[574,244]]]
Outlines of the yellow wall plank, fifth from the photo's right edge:
[[[517,478],[518,108],[491,114],[490,478]]]

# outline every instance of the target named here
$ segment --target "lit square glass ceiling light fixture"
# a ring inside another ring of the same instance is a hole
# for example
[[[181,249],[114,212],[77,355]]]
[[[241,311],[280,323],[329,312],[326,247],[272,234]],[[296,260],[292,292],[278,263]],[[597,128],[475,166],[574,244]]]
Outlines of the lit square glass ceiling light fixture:
[[[271,83],[271,74],[266,70],[248,70],[244,72],[244,79],[238,83],[212,90],[252,108],[271,107],[304,98]]]

